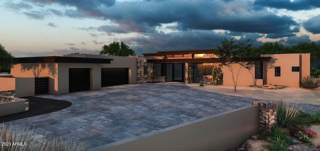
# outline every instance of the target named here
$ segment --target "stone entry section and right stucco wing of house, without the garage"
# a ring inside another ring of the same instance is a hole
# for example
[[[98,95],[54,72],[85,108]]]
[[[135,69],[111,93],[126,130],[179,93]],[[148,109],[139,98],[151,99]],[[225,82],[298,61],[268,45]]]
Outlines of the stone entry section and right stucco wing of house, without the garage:
[[[138,73],[137,82],[194,83],[203,80],[204,83],[212,83],[211,70],[217,67],[223,72],[220,83],[233,85],[231,72],[218,63],[218,57],[213,52],[214,49],[206,49],[143,54],[144,58],[138,61],[138,70],[143,68],[146,72]],[[310,75],[310,53],[261,54],[250,61],[254,64],[249,65],[248,69],[232,64],[233,71],[240,70],[238,86],[276,84],[299,87],[301,78]]]

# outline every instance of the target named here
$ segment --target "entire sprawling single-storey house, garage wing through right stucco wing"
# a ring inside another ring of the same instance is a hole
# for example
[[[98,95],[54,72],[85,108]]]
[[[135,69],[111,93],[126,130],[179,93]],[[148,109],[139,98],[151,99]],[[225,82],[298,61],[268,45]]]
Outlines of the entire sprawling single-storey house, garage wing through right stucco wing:
[[[0,78],[5,83],[0,91],[15,90],[16,97],[39,94],[65,94],[97,90],[101,87],[150,83],[212,83],[212,69],[221,70],[218,83],[233,85],[232,74],[218,63],[213,49],[159,51],[143,56],[105,56],[72,54],[17,58],[12,77]],[[249,68],[232,64],[240,71],[238,86],[276,84],[299,87],[302,77],[310,75],[310,53],[261,54],[250,58]],[[2,90],[3,89],[3,90]]]

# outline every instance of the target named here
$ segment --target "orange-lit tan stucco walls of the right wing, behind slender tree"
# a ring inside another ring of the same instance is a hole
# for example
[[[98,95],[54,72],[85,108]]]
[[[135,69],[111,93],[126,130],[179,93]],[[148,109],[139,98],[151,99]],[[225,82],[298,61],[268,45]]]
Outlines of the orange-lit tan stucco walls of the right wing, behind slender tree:
[[[299,87],[301,78],[310,75],[310,53],[290,54],[261,54],[261,57],[271,57],[269,61],[263,61],[263,79],[254,78],[254,65],[249,69],[241,68],[237,79],[237,86],[249,86],[273,84],[289,87]],[[297,68],[298,71],[293,71]],[[239,64],[232,64],[234,78],[239,71]],[[275,68],[279,69],[279,75],[275,75]],[[232,74],[227,66],[223,66],[223,85],[233,85]]]

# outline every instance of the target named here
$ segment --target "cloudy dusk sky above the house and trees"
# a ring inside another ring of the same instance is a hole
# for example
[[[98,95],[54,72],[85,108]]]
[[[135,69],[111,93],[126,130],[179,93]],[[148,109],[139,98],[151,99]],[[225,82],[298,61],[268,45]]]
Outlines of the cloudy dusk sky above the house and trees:
[[[15,57],[98,54],[123,41],[137,55],[238,41],[320,44],[320,0],[1,0],[0,43]]]

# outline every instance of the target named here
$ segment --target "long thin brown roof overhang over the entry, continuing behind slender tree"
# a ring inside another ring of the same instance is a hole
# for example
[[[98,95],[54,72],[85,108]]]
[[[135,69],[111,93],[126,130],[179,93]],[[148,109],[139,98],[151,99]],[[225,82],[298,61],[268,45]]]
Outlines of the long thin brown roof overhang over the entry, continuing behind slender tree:
[[[245,58],[244,61],[269,61],[271,57]],[[219,58],[195,58],[195,59],[147,59],[150,63],[218,63]]]

